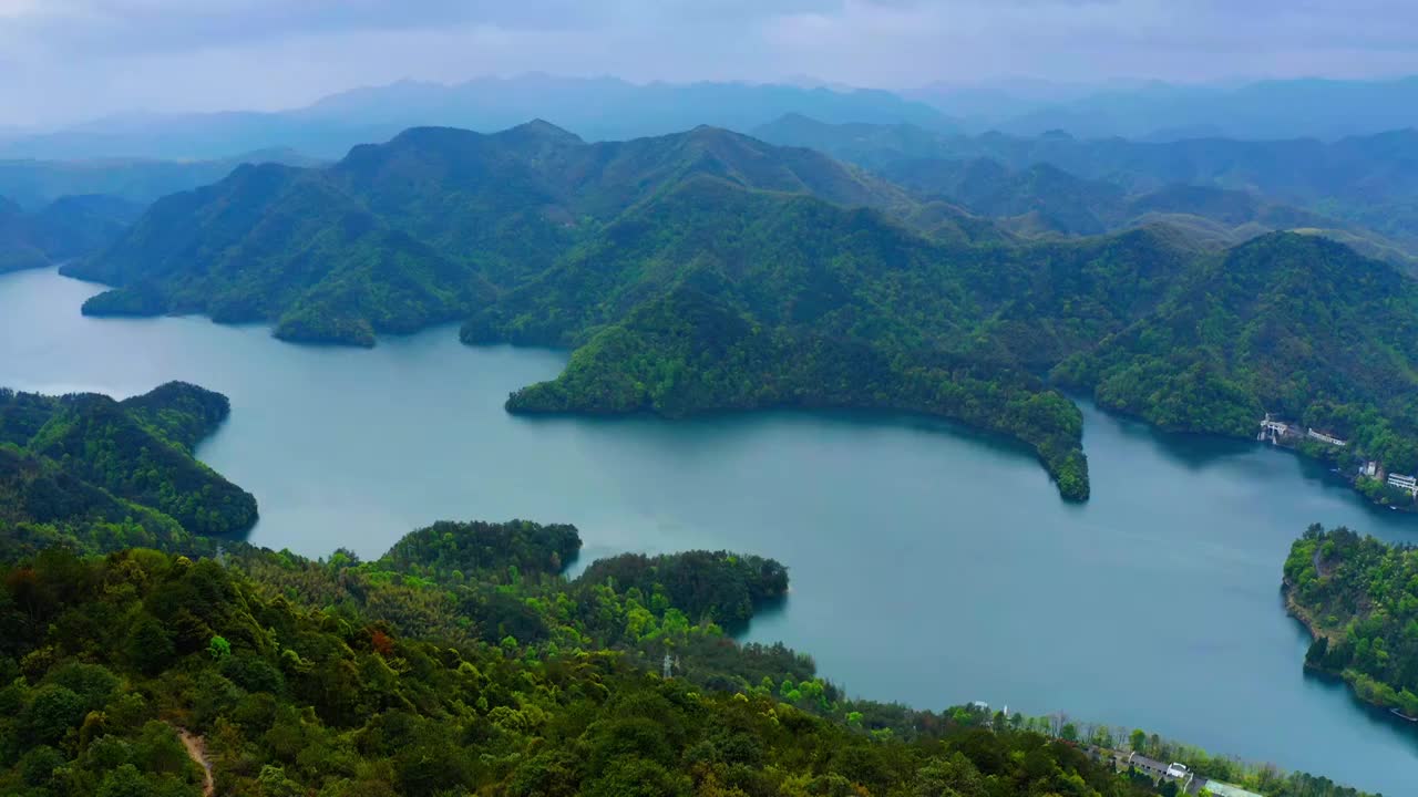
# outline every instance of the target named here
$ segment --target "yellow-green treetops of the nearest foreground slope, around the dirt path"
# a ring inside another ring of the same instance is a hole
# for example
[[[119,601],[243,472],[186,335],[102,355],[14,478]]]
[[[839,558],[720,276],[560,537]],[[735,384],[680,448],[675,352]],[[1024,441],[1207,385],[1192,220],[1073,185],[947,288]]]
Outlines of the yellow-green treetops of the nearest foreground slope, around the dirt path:
[[[380,642],[367,615],[292,601],[258,577],[136,550],[0,569],[0,657],[35,662],[0,689],[21,722],[0,719],[0,791],[194,796],[203,773],[180,726],[203,737],[230,794],[971,794],[987,780],[1010,794],[1154,794],[1034,732],[926,712],[916,728],[865,733],[754,689],[665,681],[604,650]],[[149,668],[112,644],[150,621],[180,625],[183,611],[228,640],[230,657],[194,645]],[[285,678],[274,691],[233,679],[235,661]]]

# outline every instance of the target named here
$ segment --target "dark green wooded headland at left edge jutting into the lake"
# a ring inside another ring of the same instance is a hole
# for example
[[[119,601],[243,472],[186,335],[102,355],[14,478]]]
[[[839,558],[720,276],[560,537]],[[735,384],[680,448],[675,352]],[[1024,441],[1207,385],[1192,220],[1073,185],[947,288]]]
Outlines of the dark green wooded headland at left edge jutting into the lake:
[[[183,383],[125,401],[0,390],[0,549],[245,532],[255,499],[191,454],[228,411],[224,396]]]

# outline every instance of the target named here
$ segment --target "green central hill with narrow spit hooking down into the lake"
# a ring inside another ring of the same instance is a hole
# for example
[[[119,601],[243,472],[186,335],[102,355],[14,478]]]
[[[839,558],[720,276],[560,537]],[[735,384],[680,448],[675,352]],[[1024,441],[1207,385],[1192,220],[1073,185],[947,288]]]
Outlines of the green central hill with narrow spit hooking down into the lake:
[[[946,250],[869,210],[699,177],[506,296],[467,342],[580,345],[515,411],[875,407],[1020,437],[1088,495],[1078,411],[1037,379],[959,352],[1010,254]]]

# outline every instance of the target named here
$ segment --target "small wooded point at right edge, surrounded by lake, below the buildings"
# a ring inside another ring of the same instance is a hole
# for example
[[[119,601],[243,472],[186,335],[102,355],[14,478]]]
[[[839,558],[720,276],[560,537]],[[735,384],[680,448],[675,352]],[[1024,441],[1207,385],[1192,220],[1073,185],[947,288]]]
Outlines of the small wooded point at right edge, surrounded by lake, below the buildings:
[[[1418,720],[1418,550],[1310,526],[1285,562],[1285,596],[1314,637],[1305,667]]]

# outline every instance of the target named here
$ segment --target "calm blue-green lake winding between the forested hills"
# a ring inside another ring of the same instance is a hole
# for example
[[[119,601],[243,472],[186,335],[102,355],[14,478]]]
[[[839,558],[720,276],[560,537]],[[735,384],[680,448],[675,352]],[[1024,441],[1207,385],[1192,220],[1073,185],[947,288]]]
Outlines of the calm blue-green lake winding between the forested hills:
[[[1310,462],[1157,434],[1085,406],[1093,498],[1059,501],[1021,450],[889,416],[518,418],[508,391],[564,355],[455,330],[373,350],[292,346],[199,318],[98,321],[96,286],[0,278],[0,384],[231,397],[199,455],[257,495],[251,542],[377,556],[435,519],[576,523],[581,563],[727,547],[790,567],[747,640],[813,654],[854,695],[983,699],[1143,728],[1390,796],[1418,739],[1306,678],[1280,566],[1312,522],[1418,540]]]

